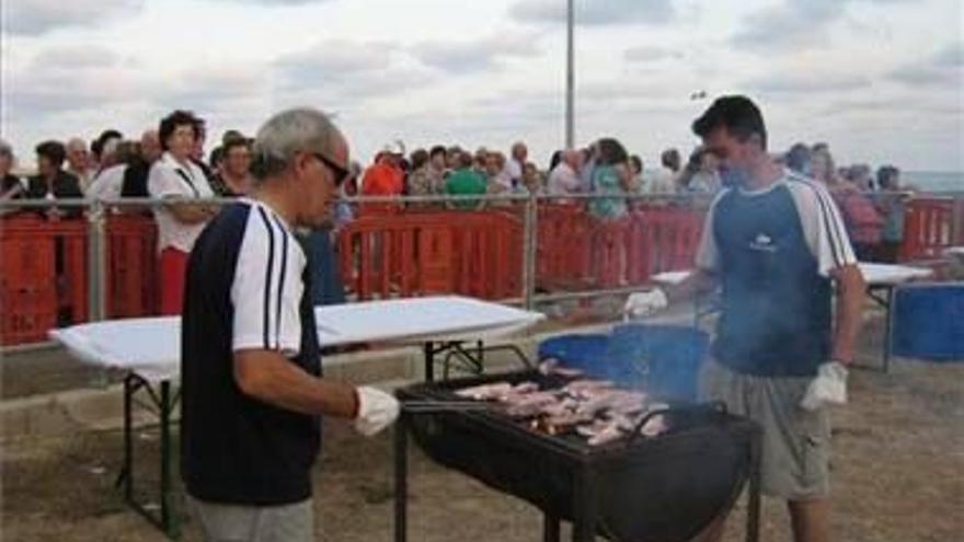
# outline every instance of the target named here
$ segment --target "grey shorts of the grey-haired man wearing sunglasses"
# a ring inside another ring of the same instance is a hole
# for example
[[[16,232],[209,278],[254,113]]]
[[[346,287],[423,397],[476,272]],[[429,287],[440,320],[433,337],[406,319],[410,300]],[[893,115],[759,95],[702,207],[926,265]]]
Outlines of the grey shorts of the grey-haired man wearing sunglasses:
[[[311,499],[283,506],[239,506],[207,503],[187,496],[191,516],[207,542],[311,542],[314,507]]]

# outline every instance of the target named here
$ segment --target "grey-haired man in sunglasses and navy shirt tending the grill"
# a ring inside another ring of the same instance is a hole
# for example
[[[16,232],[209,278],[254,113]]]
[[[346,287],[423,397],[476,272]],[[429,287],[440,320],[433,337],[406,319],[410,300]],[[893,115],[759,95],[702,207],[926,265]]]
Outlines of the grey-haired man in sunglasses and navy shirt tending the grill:
[[[344,137],[322,113],[290,109],[261,127],[254,154],[251,198],[210,221],[187,266],[181,473],[206,540],[307,542],[320,417],[372,436],[399,403],[322,377],[311,277],[292,234],[331,220],[348,175]]]

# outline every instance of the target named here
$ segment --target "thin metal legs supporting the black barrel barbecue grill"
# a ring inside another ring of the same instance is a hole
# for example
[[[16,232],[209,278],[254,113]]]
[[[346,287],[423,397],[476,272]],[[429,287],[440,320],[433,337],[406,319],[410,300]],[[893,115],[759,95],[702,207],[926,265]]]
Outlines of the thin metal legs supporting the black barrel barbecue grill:
[[[409,431],[408,415],[402,414],[394,427],[394,542],[408,541],[409,517]],[[748,473],[748,501],[746,511],[746,542],[759,541],[760,518],[760,460],[761,438],[754,431],[750,446]],[[579,470],[576,476],[576,489],[573,495],[573,542],[593,542],[597,534],[596,481],[590,466]],[[559,542],[561,518],[542,512],[543,542]]]

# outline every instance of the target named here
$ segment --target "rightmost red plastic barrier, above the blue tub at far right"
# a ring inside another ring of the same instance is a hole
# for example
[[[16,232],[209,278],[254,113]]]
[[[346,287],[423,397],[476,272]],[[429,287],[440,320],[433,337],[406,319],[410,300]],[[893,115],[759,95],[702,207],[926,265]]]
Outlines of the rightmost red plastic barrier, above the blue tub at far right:
[[[907,205],[904,219],[904,242],[900,260],[939,258],[944,249],[955,243],[953,231],[954,200],[919,198]]]

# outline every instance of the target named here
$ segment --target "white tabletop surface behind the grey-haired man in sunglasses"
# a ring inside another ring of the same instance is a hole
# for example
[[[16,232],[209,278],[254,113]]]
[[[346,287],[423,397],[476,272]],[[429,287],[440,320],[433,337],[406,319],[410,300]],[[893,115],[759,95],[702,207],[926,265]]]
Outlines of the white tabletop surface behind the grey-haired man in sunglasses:
[[[544,316],[462,297],[428,297],[315,309],[321,346],[482,339],[520,331]],[[180,373],[181,318],[108,320],[50,331],[81,361],[157,381]]]

